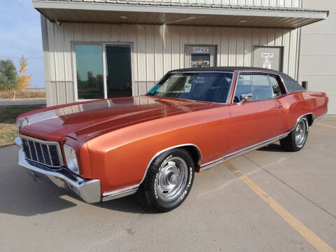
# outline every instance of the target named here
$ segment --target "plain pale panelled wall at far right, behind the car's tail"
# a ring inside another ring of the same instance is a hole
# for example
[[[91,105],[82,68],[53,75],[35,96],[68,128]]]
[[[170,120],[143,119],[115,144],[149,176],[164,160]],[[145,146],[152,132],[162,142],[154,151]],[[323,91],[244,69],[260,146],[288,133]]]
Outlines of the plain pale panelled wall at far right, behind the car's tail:
[[[302,28],[299,79],[309,90],[326,92],[329,113],[336,113],[336,1],[304,0],[304,8],[330,10],[328,20]]]

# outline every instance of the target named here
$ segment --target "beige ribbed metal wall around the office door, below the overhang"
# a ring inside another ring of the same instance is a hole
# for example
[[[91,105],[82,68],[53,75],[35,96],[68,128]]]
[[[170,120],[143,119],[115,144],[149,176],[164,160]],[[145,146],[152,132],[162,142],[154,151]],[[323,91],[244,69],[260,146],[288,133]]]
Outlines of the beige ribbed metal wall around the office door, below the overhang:
[[[251,66],[253,45],[281,45],[283,71],[297,75],[298,30],[109,25],[42,20],[48,106],[74,102],[72,42],[132,43],[133,95],[144,94],[163,74],[185,67],[185,45],[217,45],[218,66]]]

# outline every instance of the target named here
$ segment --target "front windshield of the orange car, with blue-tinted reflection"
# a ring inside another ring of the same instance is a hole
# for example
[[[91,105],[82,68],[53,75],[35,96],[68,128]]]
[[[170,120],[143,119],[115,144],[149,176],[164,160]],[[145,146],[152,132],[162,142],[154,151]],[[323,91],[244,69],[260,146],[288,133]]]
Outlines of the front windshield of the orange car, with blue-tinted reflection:
[[[226,103],[233,73],[168,73],[148,96]]]

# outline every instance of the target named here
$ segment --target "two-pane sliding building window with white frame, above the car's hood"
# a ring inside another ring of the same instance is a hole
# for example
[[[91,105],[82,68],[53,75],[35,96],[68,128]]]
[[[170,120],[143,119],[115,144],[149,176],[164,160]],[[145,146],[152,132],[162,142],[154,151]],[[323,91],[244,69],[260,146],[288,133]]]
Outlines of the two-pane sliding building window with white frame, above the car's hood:
[[[77,99],[132,96],[130,44],[74,45]]]

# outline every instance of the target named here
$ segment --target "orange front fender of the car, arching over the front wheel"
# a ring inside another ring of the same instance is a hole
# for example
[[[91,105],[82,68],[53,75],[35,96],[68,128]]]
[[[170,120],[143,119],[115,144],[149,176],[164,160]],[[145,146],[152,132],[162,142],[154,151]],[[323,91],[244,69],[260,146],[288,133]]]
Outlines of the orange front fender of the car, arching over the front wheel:
[[[195,144],[202,163],[221,158],[228,148],[228,106],[169,116],[109,132],[87,142],[92,176],[102,193],[141,183],[146,167],[159,151]]]

